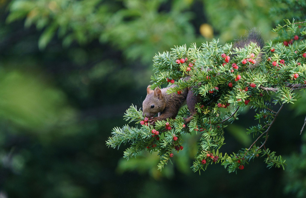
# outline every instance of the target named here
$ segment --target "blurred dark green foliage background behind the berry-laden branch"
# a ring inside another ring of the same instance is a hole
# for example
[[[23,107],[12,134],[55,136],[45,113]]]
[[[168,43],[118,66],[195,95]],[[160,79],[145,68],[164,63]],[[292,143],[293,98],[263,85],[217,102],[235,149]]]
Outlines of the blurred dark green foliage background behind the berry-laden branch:
[[[232,42],[258,27],[264,40],[282,20],[305,19],[303,1],[0,0],[0,197],[306,196],[305,92],[285,105],[263,158],[227,173],[193,173],[197,136],[162,171],[148,153],[126,161],[106,147],[112,128],[141,107],[155,53],[174,45]],[[305,5],[304,5],[305,6]],[[249,147],[253,109],[227,128],[222,152]]]

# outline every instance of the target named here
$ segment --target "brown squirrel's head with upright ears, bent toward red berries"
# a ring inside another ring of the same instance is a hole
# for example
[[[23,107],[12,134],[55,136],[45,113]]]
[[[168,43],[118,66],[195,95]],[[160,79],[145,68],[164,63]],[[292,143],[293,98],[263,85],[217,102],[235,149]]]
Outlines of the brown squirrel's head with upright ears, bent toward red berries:
[[[162,91],[156,87],[151,90],[150,86],[147,87],[147,97],[142,103],[143,116],[148,118],[155,116],[156,113],[162,112],[165,109],[165,100]]]

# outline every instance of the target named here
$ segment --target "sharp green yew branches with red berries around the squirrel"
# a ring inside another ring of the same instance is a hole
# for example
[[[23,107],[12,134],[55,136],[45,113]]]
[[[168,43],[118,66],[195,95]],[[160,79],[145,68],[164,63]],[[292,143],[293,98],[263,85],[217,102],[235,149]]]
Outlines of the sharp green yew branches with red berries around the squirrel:
[[[140,152],[158,152],[158,168],[162,169],[170,161],[173,151],[183,148],[183,135],[200,134],[198,151],[191,167],[195,172],[206,170],[210,164],[221,163],[231,173],[243,169],[259,156],[265,158],[269,168],[284,168],[285,160],[265,147],[268,132],[283,106],[297,100],[294,90],[306,88],[305,23],[297,26],[294,21],[285,22],[285,26],[278,26],[274,31],[280,32],[280,38],[290,35],[292,40],[288,43],[269,41],[263,49],[256,43],[233,48],[232,44],[221,46],[218,40],[212,40],[199,47],[196,44],[189,48],[186,45],[176,46],[170,52],[156,54],[151,89],[168,83],[167,78],[174,79],[176,85],[169,88],[168,93],[178,94],[180,90],[192,87],[201,98],[195,107],[197,113],[186,125],[184,118],[189,116],[189,112],[183,106],[176,119],[157,121],[154,126],[142,122],[143,125],[136,127],[116,127],[106,144],[112,148],[122,143],[129,144],[124,152],[127,159]],[[222,58],[223,53],[230,56],[228,63]],[[252,60],[256,57],[261,57],[261,60],[254,67]],[[177,63],[177,59],[186,61]],[[245,64],[244,59],[247,60]],[[233,68],[234,63],[238,69]],[[189,78],[182,80],[184,77]],[[237,120],[238,112],[246,106],[256,111],[255,119],[259,121],[259,124],[246,130],[254,137],[254,143],[233,154],[220,153],[219,149],[224,144],[224,128]],[[273,109],[275,107],[276,110]],[[144,117],[141,109],[132,105],[124,119],[139,124]],[[166,122],[170,128],[165,128]],[[153,129],[159,131],[159,135],[153,134]]]

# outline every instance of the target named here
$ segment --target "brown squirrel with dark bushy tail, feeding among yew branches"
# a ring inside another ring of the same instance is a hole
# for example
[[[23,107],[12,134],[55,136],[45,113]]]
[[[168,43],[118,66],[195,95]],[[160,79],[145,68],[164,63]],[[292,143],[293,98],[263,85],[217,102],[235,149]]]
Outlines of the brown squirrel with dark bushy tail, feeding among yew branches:
[[[243,48],[250,42],[257,43],[260,48],[263,48],[263,38],[260,32],[253,28],[249,31],[247,36],[241,37],[234,43],[234,48]],[[256,65],[258,65],[261,59],[261,54],[256,57]],[[255,66],[256,67],[256,66]],[[185,80],[188,80],[186,78]],[[189,123],[192,116],[196,113],[195,105],[200,101],[199,95],[194,95],[192,87],[186,88],[180,94],[171,93],[167,94],[166,91],[169,88],[174,87],[171,85],[167,88],[158,88],[151,90],[150,86],[147,87],[147,96],[143,101],[143,116],[149,118],[150,124],[155,124],[157,120],[166,120],[167,118],[175,118],[178,110],[186,101],[190,116],[185,118],[185,124]],[[158,117],[153,117],[158,113]]]

